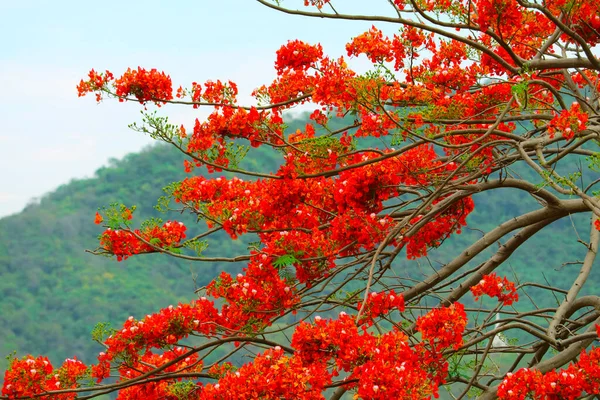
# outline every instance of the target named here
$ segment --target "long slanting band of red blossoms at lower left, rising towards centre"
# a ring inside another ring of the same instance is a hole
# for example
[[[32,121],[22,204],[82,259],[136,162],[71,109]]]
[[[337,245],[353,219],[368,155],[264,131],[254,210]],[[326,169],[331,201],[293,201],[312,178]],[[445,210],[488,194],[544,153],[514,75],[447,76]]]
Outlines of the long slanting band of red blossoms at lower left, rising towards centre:
[[[254,333],[298,303],[295,290],[280,278],[267,257],[257,255],[245,272],[246,275],[238,274],[235,279],[223,272],[208,286],[208,295],[224,300],[220,309],[202,297],[190,304],[169,306],[141,320],[127,319],[121,329],[105,340],[107,350],[98,357],[93,376],[104,379],[110,362],[137,362],[142,350],[175,345],[192,333],[203,336]]]

